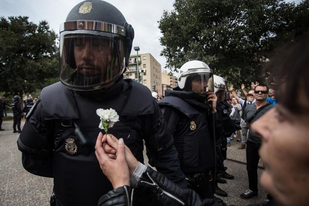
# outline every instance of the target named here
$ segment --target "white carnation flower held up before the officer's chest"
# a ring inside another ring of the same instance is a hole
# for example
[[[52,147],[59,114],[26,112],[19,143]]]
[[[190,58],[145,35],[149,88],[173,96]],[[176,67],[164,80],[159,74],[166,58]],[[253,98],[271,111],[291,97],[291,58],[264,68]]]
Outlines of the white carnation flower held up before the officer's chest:
[[[96,113],[100,117],[99,128],[104,129],[106,134],[107,134],[107,129],[113,127],[115,122],[119,121],[119,115],[112,108],[97,109]]]

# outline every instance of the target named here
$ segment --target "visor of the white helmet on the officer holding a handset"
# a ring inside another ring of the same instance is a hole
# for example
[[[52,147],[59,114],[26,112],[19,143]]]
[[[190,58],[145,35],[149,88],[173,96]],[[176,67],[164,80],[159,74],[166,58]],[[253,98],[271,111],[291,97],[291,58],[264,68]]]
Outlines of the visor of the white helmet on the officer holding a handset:
[[[184,90],[199,94],[214,91],[214,78],[212,73],[194,73],[188,75],[184,84]]]

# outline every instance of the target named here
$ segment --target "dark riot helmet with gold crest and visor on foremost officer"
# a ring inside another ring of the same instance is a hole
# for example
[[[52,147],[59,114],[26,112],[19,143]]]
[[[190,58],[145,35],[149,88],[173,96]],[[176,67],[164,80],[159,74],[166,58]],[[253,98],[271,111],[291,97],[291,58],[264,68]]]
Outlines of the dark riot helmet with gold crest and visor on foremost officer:
[[[74,90],[111,85],[125,72],[133,38],[133,27],[115,6],[80,2],[60,26],[60,81]]]

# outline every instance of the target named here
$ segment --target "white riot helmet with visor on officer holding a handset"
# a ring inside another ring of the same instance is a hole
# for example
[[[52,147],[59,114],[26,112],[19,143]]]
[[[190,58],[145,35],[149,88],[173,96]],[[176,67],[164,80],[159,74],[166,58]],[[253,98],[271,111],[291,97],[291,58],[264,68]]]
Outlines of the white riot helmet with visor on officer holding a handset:
[[[214,91],[213,70],[202,61],[188,61],[180,67],[178,87],[181,90],[206,94]]]

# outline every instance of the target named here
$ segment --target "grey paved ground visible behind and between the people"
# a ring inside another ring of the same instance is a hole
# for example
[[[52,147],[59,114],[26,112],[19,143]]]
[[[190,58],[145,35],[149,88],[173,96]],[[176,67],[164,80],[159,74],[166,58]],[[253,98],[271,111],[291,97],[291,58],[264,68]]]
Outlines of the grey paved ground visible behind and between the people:
[[[22,127],[24,119],[22,120]],[[21,153],[17,148],[16,141],[19,134],[13,133],[13,121],[3,121],[0,132],[0,205],[4,206],[32,206],[49,205],[49,196],[53,188],[53,179],[39,177],[28,173],[23,169]],[[228,147],[228,158],[246,162],[245,149],[237,149],[235,140]],[[148,162],[145,159],[145,162]],[[266,192],[259,187],[259,196],[251,200],[243,200],[239,195],[248,189],[248,176],[246,166],[226,160],[227,172],[235,176],[234,180],[227,180],[226,184],[219,184],[228,196],[222,198],[227,204],[247,205],[256,202],[263,202],[266,199]],[[262,170],[258,170],[261,174]]]

